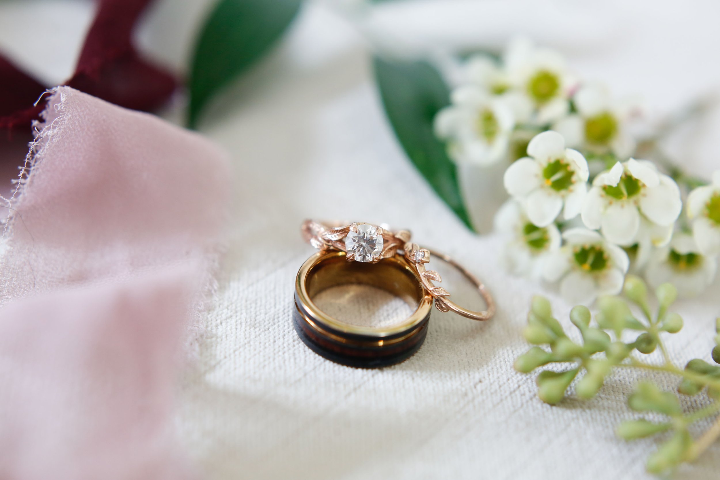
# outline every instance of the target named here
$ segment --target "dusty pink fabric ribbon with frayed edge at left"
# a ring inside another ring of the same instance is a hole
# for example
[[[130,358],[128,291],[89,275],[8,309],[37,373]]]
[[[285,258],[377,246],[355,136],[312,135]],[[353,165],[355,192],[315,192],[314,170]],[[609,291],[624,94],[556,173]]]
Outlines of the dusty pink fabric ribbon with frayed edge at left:
[[[69,87],[42,117],[0,244],[0,478],[188,478],[174,380],[228,159]]]

